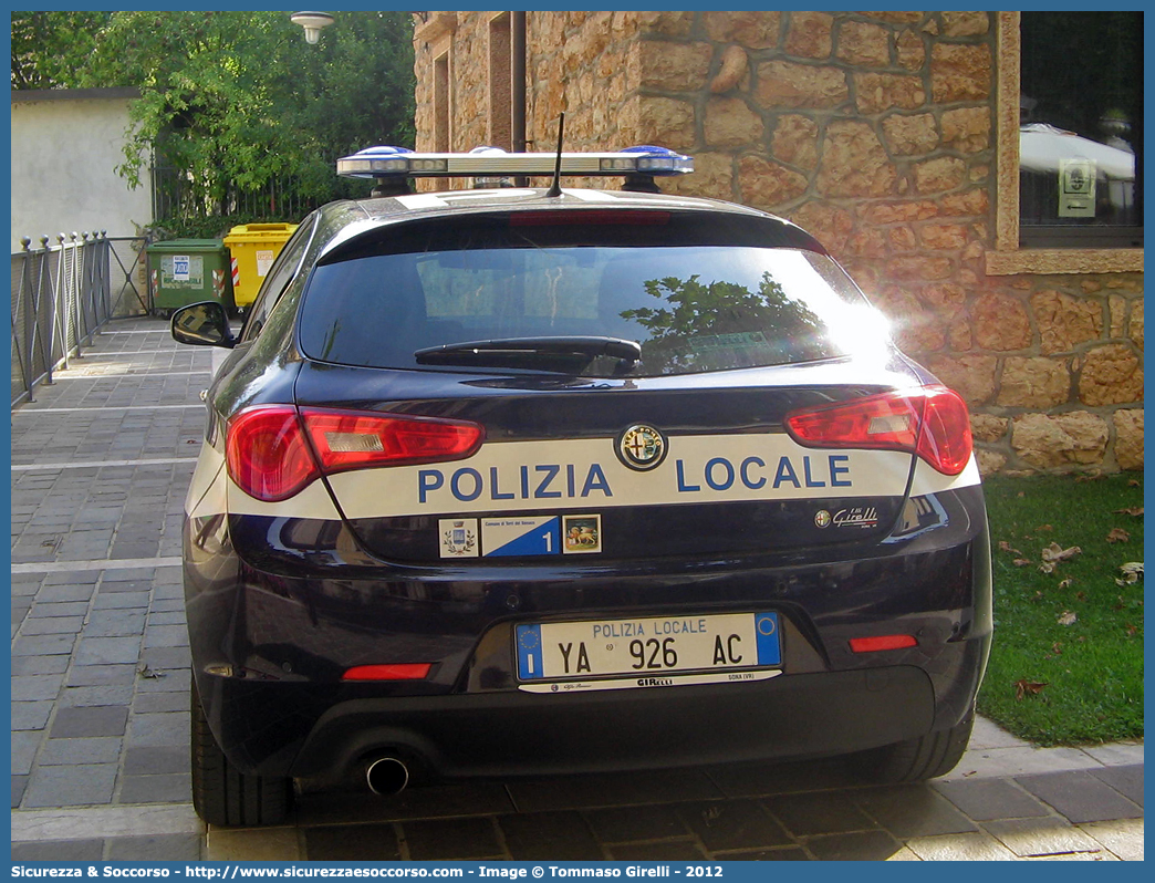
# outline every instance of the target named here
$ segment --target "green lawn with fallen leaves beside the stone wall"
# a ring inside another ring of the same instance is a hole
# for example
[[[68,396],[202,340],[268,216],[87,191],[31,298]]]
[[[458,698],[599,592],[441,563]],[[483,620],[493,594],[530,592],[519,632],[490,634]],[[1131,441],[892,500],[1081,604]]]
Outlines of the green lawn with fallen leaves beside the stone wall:
[[[1075,745],[1143,735],[1143,581],[1116,583],[1122,564],[1143,559],[1142,481],[984,482],[994,645],[978,710],[1020,737]],[[1082,551],[1045,573],[1051,543]]]

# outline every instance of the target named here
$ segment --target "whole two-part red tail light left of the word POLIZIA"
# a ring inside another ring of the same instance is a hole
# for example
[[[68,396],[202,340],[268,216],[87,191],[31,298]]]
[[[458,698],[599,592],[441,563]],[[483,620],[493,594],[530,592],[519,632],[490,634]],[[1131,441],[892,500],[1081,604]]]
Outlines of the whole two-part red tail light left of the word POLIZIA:
[[[484,439],[464,421],[270,405],[229,422],[225,462],[241,490],[276,503],[322,474],[460,460]]]

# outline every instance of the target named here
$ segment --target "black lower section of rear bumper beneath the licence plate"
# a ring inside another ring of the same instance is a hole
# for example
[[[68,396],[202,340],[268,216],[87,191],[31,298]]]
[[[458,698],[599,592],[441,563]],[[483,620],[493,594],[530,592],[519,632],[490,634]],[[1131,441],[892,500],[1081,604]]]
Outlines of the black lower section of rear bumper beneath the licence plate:
[[[221,687],[233,693],[229,704],[246,692],[236,682]],[[296,757],[267,757],[254,769],[345,776],[393,755],[454,778],[814,757],[922,735],[933,728],[934,707],[931,681],[914,666],[781,675],[724,689],[348,699],[321,714]]]

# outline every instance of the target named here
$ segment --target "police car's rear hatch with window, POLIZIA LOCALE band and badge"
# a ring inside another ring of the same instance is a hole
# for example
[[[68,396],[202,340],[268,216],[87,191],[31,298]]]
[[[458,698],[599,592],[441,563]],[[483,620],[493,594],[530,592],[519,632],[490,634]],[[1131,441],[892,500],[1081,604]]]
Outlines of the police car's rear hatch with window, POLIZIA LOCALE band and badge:
[[[862,542],[909,485],[911,446],[872,442],[902,430],[909,400],[887,394],[916,374],[837,265],[773,218],[598,207],[392,224],[322,261],[299,319],[296,396],[325,481],[386,561]],[[881,403],[859,445],[840,426],[864,401]]]

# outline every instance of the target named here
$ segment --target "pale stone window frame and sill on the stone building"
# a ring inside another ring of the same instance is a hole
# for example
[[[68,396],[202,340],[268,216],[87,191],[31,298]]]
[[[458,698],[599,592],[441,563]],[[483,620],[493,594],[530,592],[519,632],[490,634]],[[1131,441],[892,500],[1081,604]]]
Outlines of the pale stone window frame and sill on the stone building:
[[[1142,247],[1031,247],[1021,243],[1019,223],[1019,92],[1022,38],[1018,12],[1000,12],[997,23],[996,116],[998,131],[994,251],[986,253],[989,275],[1020,273],[1142,273]],[[1028,236],[1028,239],[1031,238]],[[1093,239],[1085,233],[1083,239]]]

